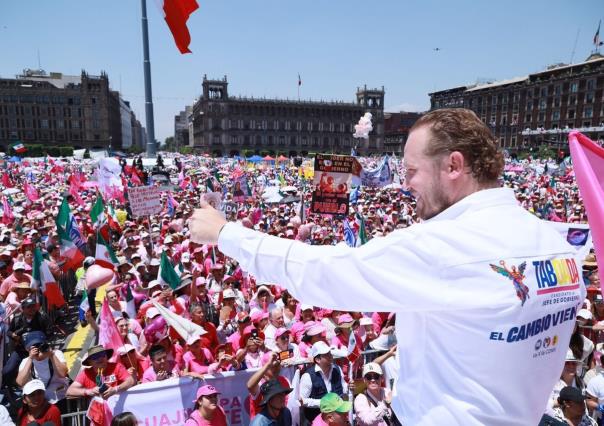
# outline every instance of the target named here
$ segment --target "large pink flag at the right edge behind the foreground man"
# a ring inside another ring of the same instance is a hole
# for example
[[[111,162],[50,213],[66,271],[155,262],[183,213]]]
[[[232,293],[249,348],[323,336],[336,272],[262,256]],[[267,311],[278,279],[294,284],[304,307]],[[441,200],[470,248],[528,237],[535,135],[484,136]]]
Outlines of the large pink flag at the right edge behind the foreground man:
[[[601,271],[604,268],[604,149],[579,132],[571,132],[568,143]],[[600,290],[604,294],[601,281]]]

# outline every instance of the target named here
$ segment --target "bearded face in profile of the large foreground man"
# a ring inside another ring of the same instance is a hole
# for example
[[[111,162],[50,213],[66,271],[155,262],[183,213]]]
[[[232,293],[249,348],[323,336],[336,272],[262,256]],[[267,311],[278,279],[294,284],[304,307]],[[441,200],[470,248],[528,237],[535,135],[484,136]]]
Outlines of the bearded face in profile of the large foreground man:
[[[417,215],[430,219],[453,203],[447,196],[442,170],[442,159],[429,158],[424,154],[431,132],[428,127],[420,127],[409,135],[405,145],[405,188],[416,200]]]

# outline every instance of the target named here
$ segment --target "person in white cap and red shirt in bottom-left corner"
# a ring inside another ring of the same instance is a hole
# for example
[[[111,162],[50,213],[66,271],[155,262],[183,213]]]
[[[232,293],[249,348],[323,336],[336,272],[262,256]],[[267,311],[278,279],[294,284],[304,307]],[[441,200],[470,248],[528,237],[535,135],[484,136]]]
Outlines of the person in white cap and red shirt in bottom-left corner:
[[[61,412],[46,400],[45,392],[42,380],[33,379],[23,386],[23,407],[17,415],[17,424],[61,426]]]

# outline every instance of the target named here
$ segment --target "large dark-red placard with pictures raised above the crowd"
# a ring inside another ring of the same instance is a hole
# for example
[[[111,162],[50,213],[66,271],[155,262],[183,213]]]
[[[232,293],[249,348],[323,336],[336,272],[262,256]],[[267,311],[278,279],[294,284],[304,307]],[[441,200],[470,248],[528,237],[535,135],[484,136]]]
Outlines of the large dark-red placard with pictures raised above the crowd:
[[[347,215],[352,175],[359,175],[361,169],[359,162],[350,155],[317,154],[311,212]]]

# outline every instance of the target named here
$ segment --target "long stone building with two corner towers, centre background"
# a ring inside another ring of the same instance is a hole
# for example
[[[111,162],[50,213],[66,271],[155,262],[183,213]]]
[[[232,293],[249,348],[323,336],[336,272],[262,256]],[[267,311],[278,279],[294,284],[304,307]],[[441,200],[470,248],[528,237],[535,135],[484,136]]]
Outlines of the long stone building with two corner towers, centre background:
[[[311,152],[362,154],[384,151],[384,88],[358,88],[356,102],[293,101],[231,97],[226,76],[202,82],[193,105],[192,146],[213,155]],[[365,112],[373,115],[368,141],[352,137]]]

